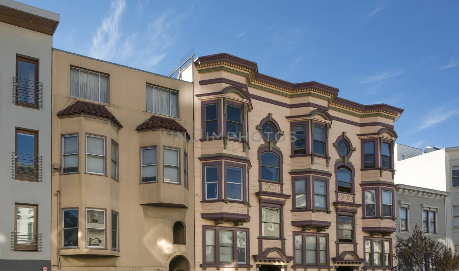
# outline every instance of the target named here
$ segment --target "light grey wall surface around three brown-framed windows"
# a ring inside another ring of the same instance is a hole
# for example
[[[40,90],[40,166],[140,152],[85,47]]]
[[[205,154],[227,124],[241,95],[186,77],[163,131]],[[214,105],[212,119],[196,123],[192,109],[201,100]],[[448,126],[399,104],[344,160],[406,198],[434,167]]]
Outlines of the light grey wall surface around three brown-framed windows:
[[[0,260],[50,260],[52,36],[0,22],[0,37]],[[12,103],[17,54],[39,60],[39,81],[43,83],[43,108],[39,110]],[[38,131],[38,154],[43,157],[41,182],[11,178],[15,128]],[[38,205],[38,233],[43,239],[40,252],[11,250],[15,203]]]

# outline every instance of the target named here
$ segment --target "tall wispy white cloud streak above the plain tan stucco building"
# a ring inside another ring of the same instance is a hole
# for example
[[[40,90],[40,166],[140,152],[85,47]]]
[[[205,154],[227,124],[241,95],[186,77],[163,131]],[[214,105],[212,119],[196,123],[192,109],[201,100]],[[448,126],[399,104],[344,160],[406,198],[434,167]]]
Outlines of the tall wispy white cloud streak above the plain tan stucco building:
[[[121,14],[126,7],[124,0],[115,0],[112,2],[109,16],[102,19],[102,25],[97,28],[97,33],[92,38],[90,56],[111,60],[115,51],[118,49],[119,39],[122,33],[119,31]]]

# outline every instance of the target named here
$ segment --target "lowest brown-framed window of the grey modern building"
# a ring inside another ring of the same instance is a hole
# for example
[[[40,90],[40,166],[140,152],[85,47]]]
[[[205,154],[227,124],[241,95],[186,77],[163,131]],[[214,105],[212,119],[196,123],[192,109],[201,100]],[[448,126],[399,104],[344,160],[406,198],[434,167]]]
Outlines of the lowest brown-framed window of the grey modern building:
[[[36,205],[15,204],[14,249],[37,250],[41,242],[37,232]]]

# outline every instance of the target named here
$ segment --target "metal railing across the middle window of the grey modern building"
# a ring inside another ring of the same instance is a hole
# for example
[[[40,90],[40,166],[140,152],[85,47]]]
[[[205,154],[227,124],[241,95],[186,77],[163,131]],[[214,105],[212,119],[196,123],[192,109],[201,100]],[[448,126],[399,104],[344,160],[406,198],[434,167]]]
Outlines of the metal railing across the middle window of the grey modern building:
[[[11,178],[25,181],[41,181],[42,157],[20,152],[12,152]]]

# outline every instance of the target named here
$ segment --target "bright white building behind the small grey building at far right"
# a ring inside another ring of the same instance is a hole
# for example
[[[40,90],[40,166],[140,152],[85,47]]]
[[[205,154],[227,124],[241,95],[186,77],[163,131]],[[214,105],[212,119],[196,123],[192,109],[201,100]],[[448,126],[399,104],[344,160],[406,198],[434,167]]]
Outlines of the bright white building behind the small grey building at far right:
[[[447,245],[459,251],[459,146],[433,148],[425,154],[397,161],[395,170],[395,184],[450,193],[445,204]]]

